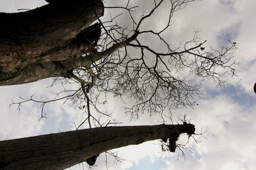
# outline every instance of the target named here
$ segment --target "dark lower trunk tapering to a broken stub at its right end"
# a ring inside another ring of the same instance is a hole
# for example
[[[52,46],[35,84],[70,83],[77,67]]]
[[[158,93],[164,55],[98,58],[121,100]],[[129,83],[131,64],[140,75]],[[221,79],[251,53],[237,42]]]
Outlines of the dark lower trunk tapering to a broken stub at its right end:
[[[0,141],[0,169],[65,169],[113,148],[194,132],[192,124],[162,124],[99,127]]]

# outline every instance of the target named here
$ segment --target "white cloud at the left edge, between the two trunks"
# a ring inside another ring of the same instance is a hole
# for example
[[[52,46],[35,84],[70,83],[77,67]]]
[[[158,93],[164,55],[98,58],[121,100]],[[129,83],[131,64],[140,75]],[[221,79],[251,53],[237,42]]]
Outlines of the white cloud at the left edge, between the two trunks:
[[[28,91],[29,85],[21,85],[11,87],[1,87],[1,119],[0,119],[0,138],[13,139],[25,136],[36,135],[40,132],[42,123],[38,123],[38,111],[33,108],[32,104],[28,104],[26,108],[22,108],[19,114],[17,107],[12,106],[12,99],[19,95],[24,95]],[[22,89],[22,90],[21,90]],[[24,111],[24,112],[23,112]]]

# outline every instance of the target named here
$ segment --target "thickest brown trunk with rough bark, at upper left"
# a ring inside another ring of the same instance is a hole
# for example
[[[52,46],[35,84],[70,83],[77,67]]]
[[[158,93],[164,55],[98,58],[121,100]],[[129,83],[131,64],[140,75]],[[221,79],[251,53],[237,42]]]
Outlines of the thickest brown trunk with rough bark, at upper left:
[[[73,39],[97,20],[94,10],[98,17],[103,15],[102,1],[52,0],[35,10],[0,13],[0,85],[62,76],[68,66],[61,70],[55,61],[77,59],[83,48],[89,48],[81,48]]]

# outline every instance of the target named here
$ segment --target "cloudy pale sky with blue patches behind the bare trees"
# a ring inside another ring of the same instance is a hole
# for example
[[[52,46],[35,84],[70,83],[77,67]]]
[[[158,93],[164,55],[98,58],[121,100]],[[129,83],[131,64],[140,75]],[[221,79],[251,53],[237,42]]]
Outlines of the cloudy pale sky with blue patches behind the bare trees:
[[[120,3],[120,1],[118,1]],[[132,1],[147,8],[146,1]],[[104,1],[118,5],[116,1]],[[46,4],[43,0],[0,0],[1,12],[18,12],[19,8],[33,9]],[[190,122],[196,125],[196,132],[205,132],[205,138],[198,136],[200,143],[189,141],[191,152],[186,151],[184,159],[178,153],[162,153],[159,141],[150,141],[138,146],[126,146],[118,150],[118,156],[124,159],[115,162],[108,156],[108,169],[121,170],[201,170],[201,169],[256,169],[256,94],[253,85],[256,82],[256,1],[246,0],[202,0],[189,3],[186,8],[175,13],[172,27],[168,35],[173,43],[179,43],[193,36],[194,29],[200,29],[200,38],[207,39],[205,48],[221,46],[227,39],[237,42],[238,50],[234,53],[238,76],[228,78],[228,82],[219,87],[210,80],[202,86],[204,96],[194,108],[173,110],[173,115],[187,114]],[[142,8],[143,9],[143,8]],[[164,10],[163,10],[164,11]],[[105,12],[106,13],[106,12]],[[143,13],[143,12],[142,12]],[[160,13],[159,16],[164,13]],[[124,15],[125,17],[125,15]],[[124,18],[120,22],[125,23]],[[151,24],[145,27],[163,24],[163,18],[154,17]],[[152,24],[154,22],[154,24]],[[58,90],[47,88],[52,79],[0,87],[0,140],[15,139],[38,134],[49,134],[60,131],[74,130],[74,122],[83,121],[81,111],[74,110],[70,103],[54,103],[45,106],[47,118],[39,120],[40,107],[35,103],[27,103],[21,108],[10,104],[19,101],[19,96],[29,97],[35,94],[46,99],[51,92]],[[159,117],[142,115],[139,120],[129,121],[125,117],[118,99],[108,98],[102,110],[113,112],[113,117],[122,125],[153,125],[161,124]],[[182,143],[186,137],[179,141]],[[114,152],[113,151],[113,152]],[[97,159],[93,169],[106,169],[105,154]],[[79,164],[70,169],[88,169],[86,164]]]

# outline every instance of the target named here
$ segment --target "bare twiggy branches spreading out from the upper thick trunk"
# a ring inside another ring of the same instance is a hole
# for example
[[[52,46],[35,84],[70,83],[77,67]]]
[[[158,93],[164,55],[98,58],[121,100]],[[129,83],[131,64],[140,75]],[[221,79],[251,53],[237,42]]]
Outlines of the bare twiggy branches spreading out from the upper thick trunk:
[[[221,85],[225,83],[227,74],[236,75],[237,64],[233,59],[236,43],[231,41],[228,41],[228,46],[207,48],[207,41],[202,41],[199,32],[195,31],[189,41],[180,42],[179,46],[170,43],[170,37],[165,33],[170,29],[175,12],[193,1],[153,1],[152,9],[140,18],[136,11],[139,6],[131,6],[130,1],[124,6],[105,7],[110,13],[109,20],[102,20],[95,13],[101,25],[97,44],[88,48],[81,45],[83,53],[77,52],[76,59],[61,62],[71,70],[68,72],[69,79],[67,73],[63,77],[66,77],[65,81],[76,84],[76,89],[70,91],[73,93],[70,94],[63,85],[63,91],[59,94],[67,94],[64,97],[38,101],[31,96],[29,99],[21,98],[21,102],[13,102],[12,105],[17,104],[20,110],[20,106],[29,101],[40,103],[43,118],[45,104],[71,100],[74,107],[81,108],[88,115],[82,124],[88,122],[90,128],[103,125],[99,121],[100,116],[110,117],[99,109],[100,104],[104,104],[100,99],[106,99],[109,93],[124,101],[130,99],[125,102],[125,113],[131,118],[138,118],[143,113],[164,117],[167,110],[193,107],[202,95],[200,87],[205,78]],[[154,25],[143,27],[163,6],[166,8],[166,4],[169,5],[168,17],[161,29],[155,31]],[[132,25],[119,24],[118,18],[122,17],[122,13],[115,14],[115,17],[111,14],[116,9],[128,13],[129,18],[125,19],[130,20]],[[146,37],[154,38],[154,42],[145,41]],[[159,46],[154,47],[156,44]],[[81,65],[85,63],[84,60],[86,64]],[[92,113],[92,108],[97,113]]]

